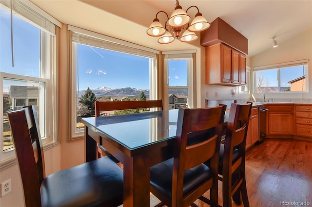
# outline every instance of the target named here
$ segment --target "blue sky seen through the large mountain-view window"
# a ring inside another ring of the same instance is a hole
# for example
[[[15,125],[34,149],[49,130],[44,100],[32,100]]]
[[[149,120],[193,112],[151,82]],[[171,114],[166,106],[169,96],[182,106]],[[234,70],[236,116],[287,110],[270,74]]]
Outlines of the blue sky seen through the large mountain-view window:
[[[87,87],[149,89],[149,59],[79,44],[79,90]]]

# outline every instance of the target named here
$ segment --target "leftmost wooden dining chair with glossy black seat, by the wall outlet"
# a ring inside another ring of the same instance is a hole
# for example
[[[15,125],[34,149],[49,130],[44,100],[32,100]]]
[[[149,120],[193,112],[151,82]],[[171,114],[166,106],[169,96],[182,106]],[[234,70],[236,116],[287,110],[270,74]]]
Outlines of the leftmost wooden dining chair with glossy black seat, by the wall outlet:
[[[26,106],[7,116],[26,207],[117,207],[123,203],[123,171],[109,157],[45,176],[35,107]]]

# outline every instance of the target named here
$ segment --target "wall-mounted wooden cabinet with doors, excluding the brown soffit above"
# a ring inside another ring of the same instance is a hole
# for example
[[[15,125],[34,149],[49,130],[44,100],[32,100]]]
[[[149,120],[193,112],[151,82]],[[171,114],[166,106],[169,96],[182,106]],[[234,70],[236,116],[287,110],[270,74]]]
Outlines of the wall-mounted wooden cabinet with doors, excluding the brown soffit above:
[[[206,47],[206,84],[246,84],[246,56],[222,43]]]

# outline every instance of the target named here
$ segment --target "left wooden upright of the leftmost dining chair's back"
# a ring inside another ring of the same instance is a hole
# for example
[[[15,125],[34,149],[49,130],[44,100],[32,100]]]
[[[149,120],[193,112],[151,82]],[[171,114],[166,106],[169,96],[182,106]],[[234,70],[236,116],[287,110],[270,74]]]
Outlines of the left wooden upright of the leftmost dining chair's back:
[[[41,206],[40,184],[42,173],[38,173],[38,163],[41,162],[39,148],[36,141],[32,141],[29,126],[32,127],[31,119],[26,118],[25,110],[20,109],[7,113],[10,123],[15,152],[17,155],[20,175],[23,184],[25,205]],[[29,122],[30,121],[30,122]],[[28,124],[29,122],[29,124]],[[35,152],[37,152],[35,158]],[[38,160],[38,162],[36,162]],[[42,166],[42,163],[39,164]]]

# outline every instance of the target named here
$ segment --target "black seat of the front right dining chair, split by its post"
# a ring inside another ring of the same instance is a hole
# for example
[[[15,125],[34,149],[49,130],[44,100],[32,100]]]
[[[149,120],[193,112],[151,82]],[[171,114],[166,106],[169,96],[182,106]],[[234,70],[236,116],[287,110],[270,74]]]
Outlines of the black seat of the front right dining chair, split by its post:
[[[174,158],[171,158],[151,167],[151,185],[169,198],[172,195],[173,162]],[[204,164],[186,170],[184,173],[183,195],[194,190],[211,177],[209,167]]]

